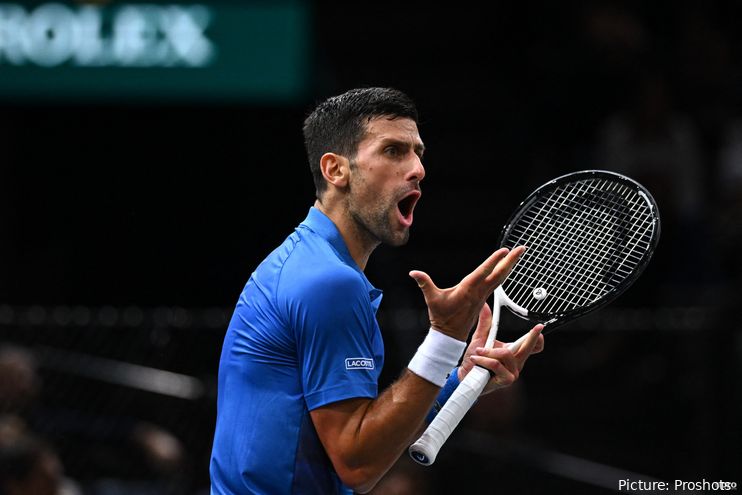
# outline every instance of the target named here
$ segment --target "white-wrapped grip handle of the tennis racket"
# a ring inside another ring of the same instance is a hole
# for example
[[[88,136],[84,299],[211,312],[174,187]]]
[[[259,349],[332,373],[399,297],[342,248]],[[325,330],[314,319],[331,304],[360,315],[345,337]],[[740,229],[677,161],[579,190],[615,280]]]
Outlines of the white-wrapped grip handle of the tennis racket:
[[[410,446],[410,456],[423,466],[435,462],[438,451],[467,411],[477,400],[490,379],[489,371],[475,366],[456,387],[451,397],[428,425],[425,433]]]

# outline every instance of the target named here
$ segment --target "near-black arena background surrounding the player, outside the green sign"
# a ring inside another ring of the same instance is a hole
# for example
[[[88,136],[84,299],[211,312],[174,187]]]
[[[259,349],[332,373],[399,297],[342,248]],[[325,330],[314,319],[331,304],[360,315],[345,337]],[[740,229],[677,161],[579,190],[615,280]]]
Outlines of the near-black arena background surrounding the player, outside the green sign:
[[[634,288],[548,336],[434,467],[403,464],[395,483],[604,493],[626,477],[742,481],[740,21],[735,1],[318,3],[296,104],[0,102],[0,336],[38,358],[38,424],[70,477],[155,480],[151,493],[207,486],[226,322],[313,201],[302,121],[328,96],[393,86],[418,104],[427,177],[409,244],[378,249],[367,269],[385,291],[385,384],[427,328],[407,272],[456,283],[548,179],[622,171],[663,215]],[[205,391],[106,384],[66,372],[64,356],[183,373]],[[89,416],[97,437],[69,419]],[[180,439],[178,474],[100,462],[131,457],[112,445],[139,420]]]

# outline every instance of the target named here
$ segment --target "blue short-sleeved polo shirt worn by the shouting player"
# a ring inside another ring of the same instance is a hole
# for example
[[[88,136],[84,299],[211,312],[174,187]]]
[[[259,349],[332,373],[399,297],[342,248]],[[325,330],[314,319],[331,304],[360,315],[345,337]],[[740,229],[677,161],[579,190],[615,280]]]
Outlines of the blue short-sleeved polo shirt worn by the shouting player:
[[[219,363],[212,494],[352,493],[309,411],[377,396],[381,296],[316,208],[258,266]]]

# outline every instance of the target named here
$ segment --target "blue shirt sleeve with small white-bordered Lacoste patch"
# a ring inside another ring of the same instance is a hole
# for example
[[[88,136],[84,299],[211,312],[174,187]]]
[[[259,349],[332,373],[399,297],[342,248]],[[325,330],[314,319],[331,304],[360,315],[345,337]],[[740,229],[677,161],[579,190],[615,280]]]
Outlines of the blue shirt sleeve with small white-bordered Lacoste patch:
[[[378,324],[366,284],[350,267],[311,272],[286,291],[307,408],[376,397]]]

